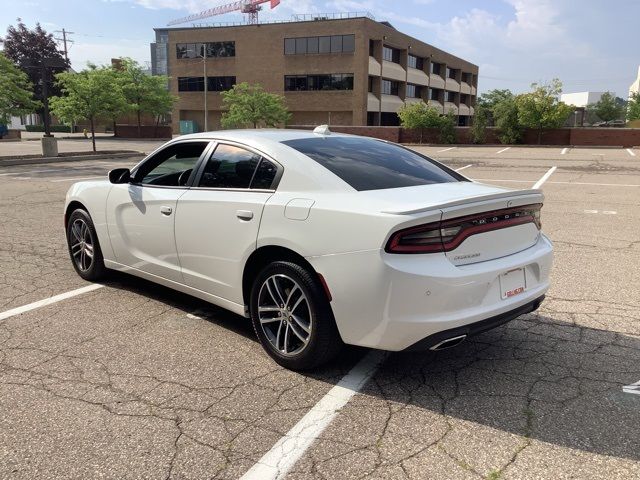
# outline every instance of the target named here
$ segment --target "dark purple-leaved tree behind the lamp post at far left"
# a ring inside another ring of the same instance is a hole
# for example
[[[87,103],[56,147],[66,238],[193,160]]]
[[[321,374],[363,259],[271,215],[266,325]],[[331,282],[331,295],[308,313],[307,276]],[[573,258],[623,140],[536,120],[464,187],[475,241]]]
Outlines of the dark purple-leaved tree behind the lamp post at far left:
[[[27,26],[19,22],[17,26],[10,26],[7,29],[7,35],[0,39],[3,44],[5,56],[13,61],[20,70],[25,72],[31,84],[35,97],[42,100],[43,81],[50,81],[48,75],[43,79],[43,69],[40,68],[43,59],[48,59],[53,63],[60,65],[59,67],[49,68],[47,72],[58,73],[64,72],[69,68],[69,62],[64,59],[62,53],[58,50],[53,35],[47,33],[39,23],[36,28],[30,30]],[[58,94],[55,90],[50,94]]]

